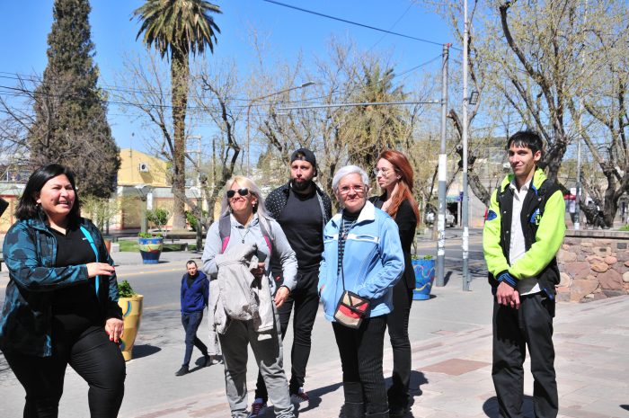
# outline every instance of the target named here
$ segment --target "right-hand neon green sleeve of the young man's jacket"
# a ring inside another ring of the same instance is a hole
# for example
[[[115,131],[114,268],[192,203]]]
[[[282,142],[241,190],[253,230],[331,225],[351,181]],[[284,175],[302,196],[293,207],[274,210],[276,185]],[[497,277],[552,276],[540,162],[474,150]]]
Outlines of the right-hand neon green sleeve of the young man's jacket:
[[[565,201],[561,191],[555,191],[546,200],[546,205],[539,227],[536,242],[524,255],[509,268],[509,273],[516,279],[536,277],[553,261],[565,236]]]

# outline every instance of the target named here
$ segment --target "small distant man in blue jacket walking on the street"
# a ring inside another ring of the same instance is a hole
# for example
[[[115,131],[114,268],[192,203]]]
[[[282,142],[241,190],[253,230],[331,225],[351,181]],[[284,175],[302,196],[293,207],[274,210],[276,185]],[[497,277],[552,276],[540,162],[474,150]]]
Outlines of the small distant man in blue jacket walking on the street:
[[[203,367],[209,366],[208,347],[199,340],[197,330],[203,320],[203,310],[208,306],[209,280],[203,271],[199,271],[197,263],[186,262],[188,271],[182,277],[182,325],[186,331],[186,353],[183,356],[182,368],[175,376],[183,376],[190,371],[192,350],[197,347],[203,353]]]

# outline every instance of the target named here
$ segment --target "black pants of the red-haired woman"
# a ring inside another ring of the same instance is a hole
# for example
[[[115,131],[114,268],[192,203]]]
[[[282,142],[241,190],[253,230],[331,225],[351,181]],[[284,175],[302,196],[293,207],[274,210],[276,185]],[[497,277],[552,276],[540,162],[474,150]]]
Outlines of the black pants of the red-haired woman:
[[[386,316],[391,347],[394,355],[393,385],[387,396],[389,405],[406,406],[409,403],[411,383],[411,341],[409,340],[409,316],[411,315],[412,289],[402,279],[394,286],[394,310]]]

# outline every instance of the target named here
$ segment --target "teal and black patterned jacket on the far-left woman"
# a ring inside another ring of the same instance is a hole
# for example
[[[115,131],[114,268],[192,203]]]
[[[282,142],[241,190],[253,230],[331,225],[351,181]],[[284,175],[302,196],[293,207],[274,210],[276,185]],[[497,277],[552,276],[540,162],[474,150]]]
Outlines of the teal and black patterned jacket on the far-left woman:
[[[113,265],[98,228],[84,218],[80,225],[92,236],[98,260]],[[4,236],[3,253],[9,270],[9,284],[0,316],[0,349],[49,357],[52,354],[51,298],[54,290],[94,279],[87,277],[85,264],[54,267],[57,238],[40,219],[20,220],[13,224]],[[122,318],[122,310],[118,306],[116,274],[100,276],[98,280],[104,326],[107,318]]]

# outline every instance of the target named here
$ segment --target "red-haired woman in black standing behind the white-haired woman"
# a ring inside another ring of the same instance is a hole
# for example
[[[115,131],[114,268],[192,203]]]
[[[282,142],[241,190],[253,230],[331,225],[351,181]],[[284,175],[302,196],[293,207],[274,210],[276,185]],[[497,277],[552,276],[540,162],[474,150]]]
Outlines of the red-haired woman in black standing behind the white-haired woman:
[[[412,166],[406,156],[393,149],[380,153],[374,169],[378,185],[383,193],[371,198],[371,202],[394,218],[400,230],[400,241],[404,256],[402,278],[394,286],[394,310],[388,315],[389,329],[394,353],[393,386],[387,391],[389,415],[402,417],[409,410],[409,384],[411,381],[411,342],[408,325],[411,314],[412,289],[415,275],[411,264],[411,245],[415,227],[420,219],[417,203],[412,198]]]

